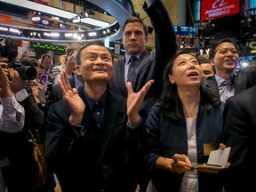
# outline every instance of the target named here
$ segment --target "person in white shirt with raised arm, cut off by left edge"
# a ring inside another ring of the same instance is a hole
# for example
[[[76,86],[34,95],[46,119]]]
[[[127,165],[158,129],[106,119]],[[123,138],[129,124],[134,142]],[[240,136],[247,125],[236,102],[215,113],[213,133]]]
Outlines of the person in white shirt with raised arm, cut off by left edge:
[[[16,132],[20,132],[24,126],[25,110],[19,104],[14,94],[12,93],[11,86],[9,84],[8,77],[5,75],[3,68],[7,65],[2,62],[3,58],[0,58],[0,190],[1,192],[7,192],[7,188],[4,183],[6,176],[3,177],[2,169],[5,166],[10,165],[9,160],[9,142],[16,143]],[[3,67],[3,68],[2,68]],[[9,185],[7,184],[9,187]]]

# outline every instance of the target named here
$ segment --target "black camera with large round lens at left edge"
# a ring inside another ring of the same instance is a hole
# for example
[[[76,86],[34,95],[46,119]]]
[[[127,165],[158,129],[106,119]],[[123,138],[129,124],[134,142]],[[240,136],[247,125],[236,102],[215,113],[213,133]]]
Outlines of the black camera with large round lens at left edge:
[[[19,60],[16,60],[18,55],[17,46],[12,44],[12,41],[0,37],[0,58],[8,59],[7,68],[13,68],[18,71],[20,78],[23,80],[33,80],[37,76],[36,68],[23,66]]]

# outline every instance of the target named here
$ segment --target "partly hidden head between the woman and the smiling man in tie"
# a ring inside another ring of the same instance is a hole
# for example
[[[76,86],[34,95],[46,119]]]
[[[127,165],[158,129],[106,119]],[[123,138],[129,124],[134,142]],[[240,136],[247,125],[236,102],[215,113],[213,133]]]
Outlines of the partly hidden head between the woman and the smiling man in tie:
[[[198,61],[201,65],[204,77],[215,75],[215,68],[212,66],[208,56],[200,55],[198,56]]]

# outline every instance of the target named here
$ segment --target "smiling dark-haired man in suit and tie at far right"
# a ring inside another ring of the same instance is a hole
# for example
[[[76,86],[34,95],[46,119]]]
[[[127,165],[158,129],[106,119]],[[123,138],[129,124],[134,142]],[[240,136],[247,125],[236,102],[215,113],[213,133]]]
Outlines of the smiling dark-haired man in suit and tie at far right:
[[[224,38],[213,44],[209,51],[209,58],[216,69],[216,74],[204,78],[204,84],[222,102],[255,84],[256,68],[248,66],[236,73],[239,48],[232,39]]]

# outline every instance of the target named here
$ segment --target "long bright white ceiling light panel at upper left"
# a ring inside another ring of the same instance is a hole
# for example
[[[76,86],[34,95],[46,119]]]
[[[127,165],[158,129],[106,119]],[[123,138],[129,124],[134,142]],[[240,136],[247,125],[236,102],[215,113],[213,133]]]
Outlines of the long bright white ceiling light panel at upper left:
[[[45,4],[37,4],[35,2],[31,2],[28,0],[0,0],[0,2],[4,2],[5,4],[13,4],[13,5],[18,5],[20,7],[28,8],[37,12],[45,12],[47,14],[55,15],[58,17],[66,18],[68,20],[76,17],[76,13],[73,12],[67,12],[61,9],[54,8],[52,6],[48,6]],[[92,18],[86,18],[86,20],[82,20],[82,22],[97,26],[100,28],[108,27],[109,23],[102,21],[102,20],[95,20]]]

